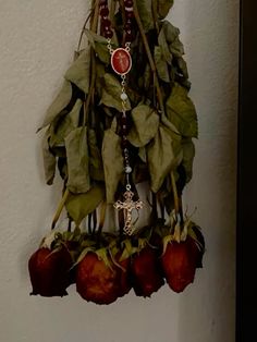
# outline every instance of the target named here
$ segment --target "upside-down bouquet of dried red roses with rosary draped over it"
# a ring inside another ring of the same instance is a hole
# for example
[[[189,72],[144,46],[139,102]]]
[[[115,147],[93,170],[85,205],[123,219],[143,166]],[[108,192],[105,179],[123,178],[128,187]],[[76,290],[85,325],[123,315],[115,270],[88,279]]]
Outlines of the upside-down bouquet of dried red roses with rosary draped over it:
[[[182,292],[201,267],[205,241],[183,211],[197,114],[173,0],[93,0],[74,61],[44,123],[46,183],[62,199],[28,261],[32,294],[76,291],[97,304]],[[84,39],[86,38],[86,39]],[[85,40],[85,47],[82,48]],[[138,184],[148,184],[147,203]],[[106,216],[117,218],[106,227]],[[150,208],[148,224],[138,216]],[[66,230],[58,229],[61,212]]]

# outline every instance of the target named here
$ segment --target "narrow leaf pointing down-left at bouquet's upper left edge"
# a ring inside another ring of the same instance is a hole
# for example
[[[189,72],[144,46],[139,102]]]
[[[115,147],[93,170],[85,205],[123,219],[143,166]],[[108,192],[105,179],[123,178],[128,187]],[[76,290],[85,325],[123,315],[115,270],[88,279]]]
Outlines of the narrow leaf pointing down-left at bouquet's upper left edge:
[[[45,120],[38,131],[49,125],[54,119],[62,114],[63,109],[70,103],[72,99],[72,85],[70,82],[64,81],[62,88],[58,96],[54,98],[51,106],[48,108]]]

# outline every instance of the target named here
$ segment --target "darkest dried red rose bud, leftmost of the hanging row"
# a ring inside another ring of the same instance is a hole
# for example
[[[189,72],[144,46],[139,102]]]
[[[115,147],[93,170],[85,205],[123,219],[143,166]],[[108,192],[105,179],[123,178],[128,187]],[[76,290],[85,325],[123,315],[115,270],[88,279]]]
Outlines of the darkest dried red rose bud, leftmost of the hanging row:
[[[71,284],[72,257],[66,248],[39,248],[28,260],[33,292],[46,297],[64,296]]]

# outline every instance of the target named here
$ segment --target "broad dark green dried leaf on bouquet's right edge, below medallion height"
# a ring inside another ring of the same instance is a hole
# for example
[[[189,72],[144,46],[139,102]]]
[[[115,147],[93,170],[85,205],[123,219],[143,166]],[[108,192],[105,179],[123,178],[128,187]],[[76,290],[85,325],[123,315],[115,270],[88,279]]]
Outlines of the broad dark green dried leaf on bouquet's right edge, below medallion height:
[[[197,114],[187,93],[187,89],[178,83],[174,84],[166,103],[167,117],[183,136],[197,137]]]

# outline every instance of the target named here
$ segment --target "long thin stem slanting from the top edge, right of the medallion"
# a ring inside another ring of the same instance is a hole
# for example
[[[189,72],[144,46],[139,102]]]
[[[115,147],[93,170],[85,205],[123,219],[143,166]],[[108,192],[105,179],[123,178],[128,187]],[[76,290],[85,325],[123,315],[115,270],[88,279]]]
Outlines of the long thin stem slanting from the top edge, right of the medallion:
[[[144,26],[142,24],[142,20],[140,20],[140,16],[139,16],[139,13],[138,13],[137,1],[138,0],[134,0],[134,15],[135,15],[135,20],[136,20],[137,26],[139,28],[139,32],[140,32],[140,36],[142,36],[142,39],[143,39],[143,44],[144,44],[144,47],[145,47],[145,50],[146,50],[147,58],[149,60],[151,72],[154,73],[156,93],[157,93],[158,101],[159,101],[159,105],[160,105],[160,110],[161,110],[162,114],[164,114],[166,109],[164,109],[162,93],[161,93],[161,88],[160,88],[160,84],[159,84],[159,80],[158,80],[158,75],[157,75],[157,71],[156,71],[156,64],[155,64],[154,58],[151,56],[150,47],[149,47],[149,44],[147,41],[147,37],[146,37],[146,34],[145,34],[145,30],[144,30]]]

